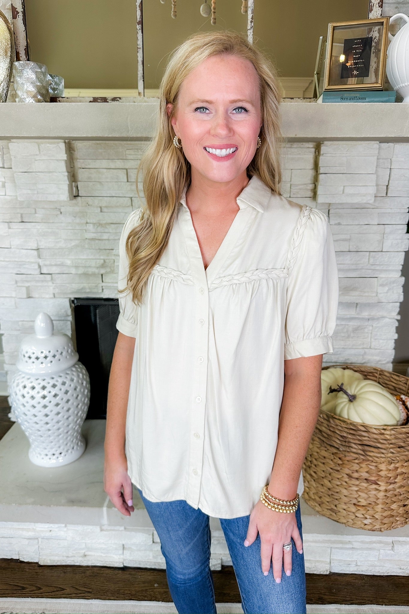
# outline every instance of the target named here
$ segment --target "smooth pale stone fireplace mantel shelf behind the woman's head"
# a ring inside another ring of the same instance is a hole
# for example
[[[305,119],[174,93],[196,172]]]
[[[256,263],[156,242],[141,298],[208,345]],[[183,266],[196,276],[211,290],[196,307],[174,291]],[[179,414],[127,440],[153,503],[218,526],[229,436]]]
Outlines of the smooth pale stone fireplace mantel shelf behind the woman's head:
[[[132,103],[3,103],[0,138],[138,141],[155,130],[158,98]],[[409,141],[409,106],[402,103],[281,103],[291,141]]]

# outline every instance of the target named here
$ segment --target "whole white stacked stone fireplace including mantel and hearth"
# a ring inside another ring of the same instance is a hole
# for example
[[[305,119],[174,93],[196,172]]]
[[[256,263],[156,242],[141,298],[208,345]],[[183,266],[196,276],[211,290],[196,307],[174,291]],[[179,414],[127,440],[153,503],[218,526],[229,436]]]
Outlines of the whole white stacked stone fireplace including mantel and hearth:
[[[0,142],[0,333],[7,378],[40,311],[75,341],[74,300],[117,298],[123,223],[153,134],[140,103],[4,104]],[[324,363],[391,370],[408,250],[409,125],[402,104],[283,103],[283,195],[329,217],[340,300]],[[373,107],[373,108],[372,108]],[[4,128],[4,129],[3,129]],[[142,185],[140,185],[142,194]],[[78,339],[77,339],[78,341]],[[164,567],[137,492],[131,518],[103,490],[105,421],[87,420],[72,465],[29,463],[19,424],[0,442],[0,557],[40,564]],[[409,526],[365,532],[302,500],[307,572],[409,574]],[[230,564],[212,519],[212,569]]]

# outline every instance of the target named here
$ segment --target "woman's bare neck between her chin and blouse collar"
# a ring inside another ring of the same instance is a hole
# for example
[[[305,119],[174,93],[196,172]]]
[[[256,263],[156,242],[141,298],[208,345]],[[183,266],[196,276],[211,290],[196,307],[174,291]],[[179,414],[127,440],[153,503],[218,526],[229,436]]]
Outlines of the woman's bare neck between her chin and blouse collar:
[[[211,215],[239,208],[236,198],[248,184],[246,171],[231,181],[210,181],[192,168],[191,184],[186,191],[186,204],[191,212],[207,212]]]

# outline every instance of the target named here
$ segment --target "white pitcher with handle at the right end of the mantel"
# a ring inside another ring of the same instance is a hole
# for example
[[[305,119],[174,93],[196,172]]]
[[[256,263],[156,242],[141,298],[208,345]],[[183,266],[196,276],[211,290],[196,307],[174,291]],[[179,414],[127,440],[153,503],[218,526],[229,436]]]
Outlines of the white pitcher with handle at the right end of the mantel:
[[[409,17],[404,13],[397,13],[392,15],[389,25],[399,18],[406,23],[395,36],[388,34],[391,43],[386,58],[386,74],[394,90],[403,96],[402,102],[409,103]]]

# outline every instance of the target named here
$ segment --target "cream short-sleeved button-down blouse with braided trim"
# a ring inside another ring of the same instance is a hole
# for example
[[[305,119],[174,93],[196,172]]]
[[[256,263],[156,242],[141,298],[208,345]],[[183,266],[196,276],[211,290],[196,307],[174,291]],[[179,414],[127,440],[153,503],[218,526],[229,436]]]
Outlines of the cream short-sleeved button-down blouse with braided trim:
[[[250,514],[269,483],[284,360],[332,352],[338,306],[326,215],[257,176],[237,204],[205,269],[185,190],[142,304],[120,294],[117,321],[136,338],[125,446],[132,482],[151,501],[184,499],[216,518]],[[121,235],[120,288],[139,215]]]

